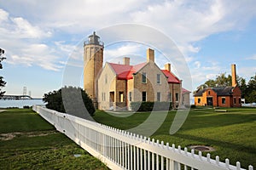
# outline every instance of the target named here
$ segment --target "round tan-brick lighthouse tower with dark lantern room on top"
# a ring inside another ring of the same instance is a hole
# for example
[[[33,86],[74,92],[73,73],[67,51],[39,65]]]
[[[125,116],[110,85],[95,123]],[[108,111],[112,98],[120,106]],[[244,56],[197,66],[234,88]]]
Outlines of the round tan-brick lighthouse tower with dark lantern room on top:
[[[97,108],[97,81],[102,70],[104,43],[94,31],[84,42],[84,90]]]

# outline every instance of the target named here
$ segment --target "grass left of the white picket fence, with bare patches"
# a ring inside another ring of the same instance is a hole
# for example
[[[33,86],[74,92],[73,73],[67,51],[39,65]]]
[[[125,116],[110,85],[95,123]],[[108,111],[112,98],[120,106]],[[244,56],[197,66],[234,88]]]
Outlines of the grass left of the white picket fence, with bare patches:
[[[15,135],[0,139],[0,169],[108,169],[31,110],[1,112],[3,133]]]

